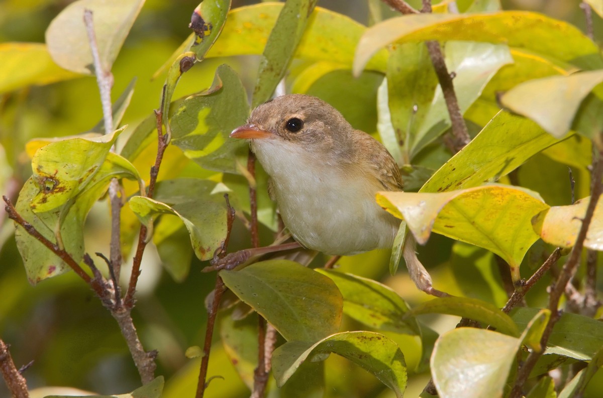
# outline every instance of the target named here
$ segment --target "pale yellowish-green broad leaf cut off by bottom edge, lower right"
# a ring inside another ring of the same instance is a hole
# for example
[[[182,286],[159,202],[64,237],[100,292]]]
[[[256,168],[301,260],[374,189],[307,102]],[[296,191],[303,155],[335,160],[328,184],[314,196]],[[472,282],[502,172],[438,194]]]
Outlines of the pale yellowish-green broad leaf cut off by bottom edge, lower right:
[[[475,328],[444,333],[431,357],[439,396],[502,397],[520,343],[518,338]]]

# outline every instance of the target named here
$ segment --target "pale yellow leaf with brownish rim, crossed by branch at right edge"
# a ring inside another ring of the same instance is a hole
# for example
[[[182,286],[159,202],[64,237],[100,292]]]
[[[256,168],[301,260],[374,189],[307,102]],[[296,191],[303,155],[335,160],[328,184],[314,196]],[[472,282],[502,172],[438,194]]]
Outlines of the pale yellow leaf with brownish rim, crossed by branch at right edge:
[[[573,205],[554,206],[543,210],[533,220],[534,231],[542,240],[554,246],[573,247],[582,227],[582,219],[589,206],[590,197],[576,201]],[[603,250],[603,201],[599,199],[595,214],[589,225],[584,246]]]

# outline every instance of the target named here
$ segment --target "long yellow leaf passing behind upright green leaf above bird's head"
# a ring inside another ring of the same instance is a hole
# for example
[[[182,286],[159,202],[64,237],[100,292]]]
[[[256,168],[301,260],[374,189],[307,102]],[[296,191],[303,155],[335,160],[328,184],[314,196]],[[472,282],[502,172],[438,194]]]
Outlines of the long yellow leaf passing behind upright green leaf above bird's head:
[[[282,8],[282,3],[262,2],[230,11],[218,45],[213,46],[206,57],[262,54]],[[348,16],[315,7],[293,57],[308,61],[330,61],[349,69],[358,40],[366,29],[366,26]],[[329,40],[325,40],[325,37]],[[367,68],[385,71],[386,61],[387,51],[379,51]]]

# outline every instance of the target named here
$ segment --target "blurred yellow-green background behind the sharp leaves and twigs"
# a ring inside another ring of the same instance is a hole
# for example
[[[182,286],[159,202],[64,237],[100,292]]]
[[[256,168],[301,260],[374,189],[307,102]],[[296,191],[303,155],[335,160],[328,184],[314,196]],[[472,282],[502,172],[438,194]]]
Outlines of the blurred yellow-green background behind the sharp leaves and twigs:
[[[251,3],[235,0],[233,8]],[[66,0],[1,1],[0,42],[43,42],[46,26],[68,4]],[[198,0],[147,0],[113,67],[113,98],[119,96],[134,76],[137,77],[134,96],[123,124],[135,126],[158,107],[163,77],[153,81],[151,76],[189,35],[188,23],[197,4]],[[368,23],[366,0],[323,0],[318,5],[347,14],[361,23]],[[540,11],[584,29],[584,15],[577,0],[503,1],[503,6],[505,9]],[[601,20],[596,16],[594,19],[596,37],[600,42]],[[181,79],[174,98],[208,87],[213,79],[213,71],[223,62],[209,59],[195,66]],[[256,57],[239,57],[228,62],[238,70],[249,92],[254,84]],[[31,173],[30,161],[24,154],[28,140],[77,134],[91,128],[100,119],[98,89],[92,77],[0,95],[2,193],[14,198]],[[90,213],[87,220],[87,230],[90,231],[87,251],[106,251],[109,242],[107,214],[103,202],[99,202]],[[1,225],[0,337],[11,344],[17,367],[34,361],[25,372],[28,386],[63,385],[100,394],[125,393],[139,387],[136,369],[118,327],[92,291],[73,273],[32,287],[16,250],[13,225],[4,216]],[[233,242],[233,250],[247,245],[240,226],[238,232],[241,239]],[[432,250],[436,247],[437,250]],[[471,272],[463,267],[463,259],[472,258],[478,266],[495,267],[491,255],[462,245],[455,246],[452,263],[444,263],[450,257],[451,247],[452,243],[446,238],[434,236],[428,247],[421,250],[425,263],[439,264],[432,270],[432,275],[441,290],[453,294],[463,290],[456,281],[467,278]],[[388,253],[373,252],[344,259],[342,264],[358,275],[385,280],[411,304],[425,299],[403,273],[395,278],[384,279],[384,275],[387,276],[387,259]],[[367,263],[381,266],[366,267]],[[186,359],[184,352],[189,346],[202,344],[206,321],[204,299],[212,289],[215,278],[214,274],[198,272],[201,267],[202,264],[194,259],[186,281],[176,283],[162,271],[152,245],[145,253],[137,305],[133,312],[134,324],[139,329],[145,348],[159,350],[157,375],[164,375],[168,380],[166,396],[181,396],[183,391],[188,391],[187,395],[192,394],[190,388],[196,384],[197,362]],[[492,278],[496,279],[497,273],[494,275]],[[548,281],[540,283],[546,284]],[[476,294],[479,296],[479,292]],[[533,299],[538,300],[538,297]],[[504,297],[490,297],[489,300],[498,303]],[[434,317],[431,325],[435,329],[449,329],[455,323],[453,317]],[[409,337],[393,338],[405,344],[407,362],[418,361],[417,341]],[[379,382],[364,371],[351,367],[349,362],[330,358],[329,364],[340,369],[327,376],[332,379],[330,385],[346,391],[350,384],[364,384],[365,391],[356,391],[358,396],[378,396],[382,393],[383,387]],[[342,376],[344,372],[348,372],[348,379]],[[212,352],[209,376],[212,375],[222,375],[226,382],[213,381],[206,396],[248,395],[218,346]],[[336,379],[338,376],[343,379]],[[415,396],[415,391],[420,391],[427,379],[427,375],[415,379],[409,386],[407,396]],[[385,397],[390,392],[384,391],[382,394]],[[5,396],[8,396],[8,392],[0,383],[0,397]]]

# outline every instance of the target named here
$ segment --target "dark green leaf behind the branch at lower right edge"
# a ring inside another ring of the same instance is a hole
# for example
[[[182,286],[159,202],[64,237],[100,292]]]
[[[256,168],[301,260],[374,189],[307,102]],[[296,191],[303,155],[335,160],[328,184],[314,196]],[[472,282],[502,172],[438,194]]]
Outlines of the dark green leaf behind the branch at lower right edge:
[[[511,314],[519,328],[526,328],[537,308],[517,308]],[[603,346],[603,323],[578,314],[564,312],[555,323],[547,343],[547,353],[590,361]]]

